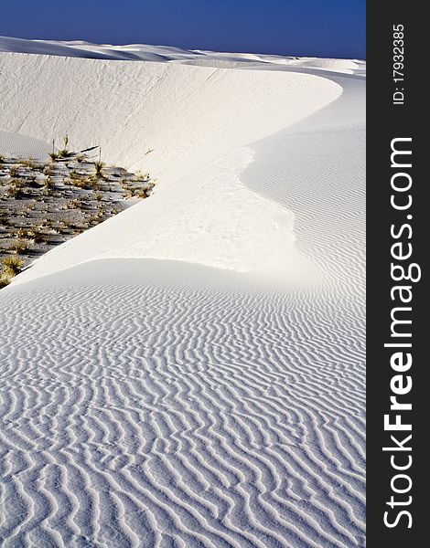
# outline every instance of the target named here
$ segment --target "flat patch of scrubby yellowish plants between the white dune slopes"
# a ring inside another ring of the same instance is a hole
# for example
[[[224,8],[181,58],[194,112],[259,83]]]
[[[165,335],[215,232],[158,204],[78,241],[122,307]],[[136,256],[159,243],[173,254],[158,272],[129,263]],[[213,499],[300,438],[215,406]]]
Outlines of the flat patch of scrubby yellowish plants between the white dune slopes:
[[[49,249],[145,199],[154,185],[149,174],[106,165],[100,154],[93,162],[70,152],[67,135],[46,162],[0,155],[0,289]]]

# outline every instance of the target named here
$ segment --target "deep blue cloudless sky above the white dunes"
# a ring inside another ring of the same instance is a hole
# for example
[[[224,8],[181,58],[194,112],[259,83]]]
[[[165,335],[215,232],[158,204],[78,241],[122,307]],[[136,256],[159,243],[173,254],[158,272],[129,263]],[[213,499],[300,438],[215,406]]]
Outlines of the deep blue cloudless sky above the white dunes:
[[[365,58],[365,1],[0,0],[0,35]]]

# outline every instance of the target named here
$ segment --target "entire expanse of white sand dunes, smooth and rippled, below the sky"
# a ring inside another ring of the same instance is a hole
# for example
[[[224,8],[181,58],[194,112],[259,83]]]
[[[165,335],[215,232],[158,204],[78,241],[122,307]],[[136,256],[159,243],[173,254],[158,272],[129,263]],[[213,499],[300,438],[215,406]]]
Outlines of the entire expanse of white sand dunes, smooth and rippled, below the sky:
[[[159,179],[0,293],[5,546],[364,546],[363,63],[0,49],[1,130]]]

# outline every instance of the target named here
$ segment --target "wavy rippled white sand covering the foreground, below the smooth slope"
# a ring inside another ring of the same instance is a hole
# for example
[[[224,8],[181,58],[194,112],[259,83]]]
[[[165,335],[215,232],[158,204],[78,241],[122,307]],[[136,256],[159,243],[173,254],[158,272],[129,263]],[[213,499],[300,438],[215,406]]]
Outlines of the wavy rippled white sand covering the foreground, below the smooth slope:
[[[364,545],[362,311],[27,291],[2,297],[5,546]]]

